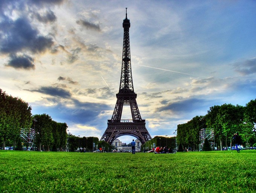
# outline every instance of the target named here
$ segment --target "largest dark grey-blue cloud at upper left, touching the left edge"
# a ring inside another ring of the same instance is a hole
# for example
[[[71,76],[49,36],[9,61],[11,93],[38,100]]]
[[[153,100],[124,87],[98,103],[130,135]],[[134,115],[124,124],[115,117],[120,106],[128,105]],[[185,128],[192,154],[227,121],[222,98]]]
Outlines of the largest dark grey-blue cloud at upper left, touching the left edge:
[[[15,53],[28,49],[31,52],[44,52],[53,45],[52,38],[40,36],[26,18],[0,23],[0,51]]]

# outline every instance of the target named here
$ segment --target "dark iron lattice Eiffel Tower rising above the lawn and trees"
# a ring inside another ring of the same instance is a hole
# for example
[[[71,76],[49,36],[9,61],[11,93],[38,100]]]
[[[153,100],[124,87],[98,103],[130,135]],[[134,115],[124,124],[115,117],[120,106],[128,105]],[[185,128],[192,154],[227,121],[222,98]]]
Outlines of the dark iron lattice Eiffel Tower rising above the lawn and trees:
[[[116,106],[111,120],[108,120],[108,127],[101,137],[101,141],[108,144],[123,135],[131,135],[139,139],[142,144],[152,139],[146,129],[145,119],[140,116],[139,108],[136,102],[137,94],[133,89],[133,78],[131,74],[131,54],[130,54],[130,19],[123,19],[123,58],[119,92],[116,94]],[[132,120],[121,120],[123,106],[130,106]]]

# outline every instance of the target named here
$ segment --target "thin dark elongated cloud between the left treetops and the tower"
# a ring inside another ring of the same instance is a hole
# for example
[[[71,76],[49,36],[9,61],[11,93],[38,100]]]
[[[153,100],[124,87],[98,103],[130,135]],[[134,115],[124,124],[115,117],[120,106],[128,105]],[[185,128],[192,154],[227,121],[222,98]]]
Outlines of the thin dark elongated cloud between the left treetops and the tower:
[[[53,97],[70,98],[71,94],[69,91],[57,87],[41,87],[39,90],[31,90],[32,92],[38,92],[48,94]]]

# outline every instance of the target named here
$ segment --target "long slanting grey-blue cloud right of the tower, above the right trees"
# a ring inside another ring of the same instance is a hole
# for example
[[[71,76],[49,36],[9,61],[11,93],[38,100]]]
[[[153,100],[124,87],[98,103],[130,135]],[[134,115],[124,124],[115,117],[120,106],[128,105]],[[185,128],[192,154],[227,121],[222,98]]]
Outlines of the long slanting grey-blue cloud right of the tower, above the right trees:
[[[160,108],[157,108],[157,112],[161,111],[171,111],[171,112],[187,112],[187,111],[195,111],[199,107],[202,108],[205,105],[206,101],[204,99],[185,99],[178,102],[168,103]]]

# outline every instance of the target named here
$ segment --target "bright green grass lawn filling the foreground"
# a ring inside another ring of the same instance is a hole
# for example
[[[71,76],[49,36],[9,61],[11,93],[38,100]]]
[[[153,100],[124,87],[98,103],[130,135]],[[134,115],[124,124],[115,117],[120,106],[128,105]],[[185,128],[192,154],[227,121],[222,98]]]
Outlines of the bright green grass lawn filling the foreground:
[[[256,192],[256,151],[0,151],[0,192]]]

